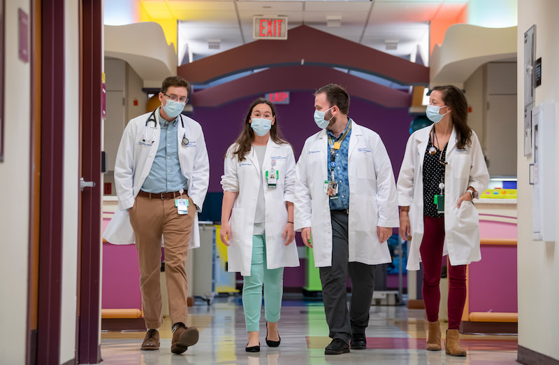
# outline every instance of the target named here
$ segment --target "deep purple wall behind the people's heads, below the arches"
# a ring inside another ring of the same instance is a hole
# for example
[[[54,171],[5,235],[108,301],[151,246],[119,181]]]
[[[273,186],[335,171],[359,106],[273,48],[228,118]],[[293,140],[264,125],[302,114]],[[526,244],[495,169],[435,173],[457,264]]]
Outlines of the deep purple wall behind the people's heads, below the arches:
[[[351,90],[349,90],[351,91]],[[240,99],[219,108],[194,108],[191,117],[202,125],[208,154],[210,155],[209,192],[221,192],[219,183],[223,174],[224,155],[240,133],[242,122],[255,97]],[[314,93],[291,92],[288,105],[277,105],[277,123],[299,158],[305,140],[319,129],[314,124]],[[349,117],[357,124],[376,131],[382,138],[392,161],[395,178],[398,178],[409,136],[409,124],[414,117],[407,108],[384,108],[363,99],[351,98]]]

